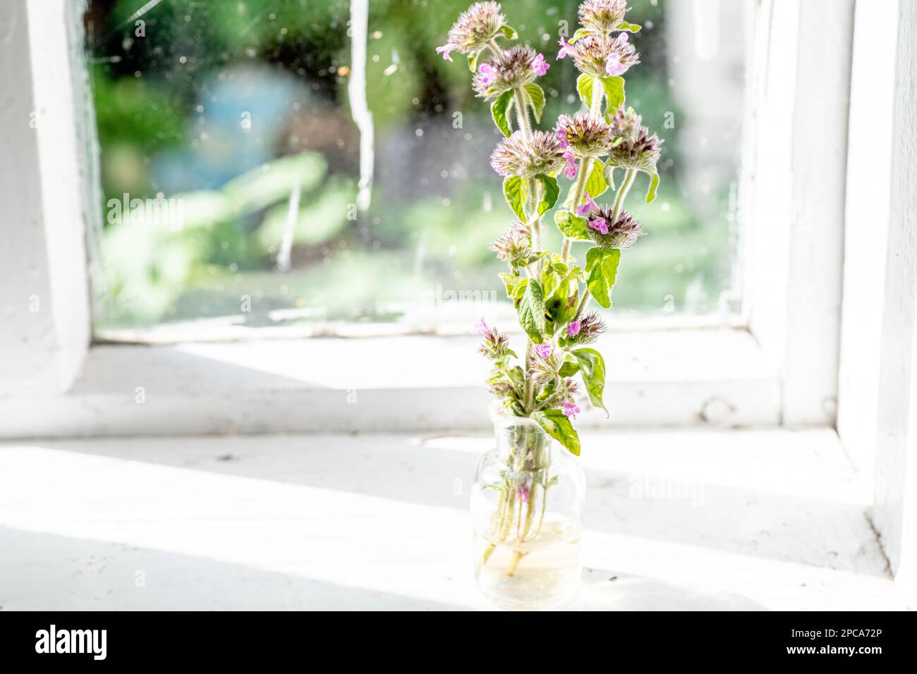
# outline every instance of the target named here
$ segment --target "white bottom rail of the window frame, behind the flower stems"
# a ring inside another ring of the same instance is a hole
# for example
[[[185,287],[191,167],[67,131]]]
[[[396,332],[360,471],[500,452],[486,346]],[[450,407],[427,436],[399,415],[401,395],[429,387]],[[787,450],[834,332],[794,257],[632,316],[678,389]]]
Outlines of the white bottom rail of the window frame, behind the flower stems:
[[[97,346],[63,396],[0,401],[0,436],[481,428],[477,337]],[[779,382],[744,330],[610,333],[611,418],[580,425],[773,425]],[[589,404],[584,403],[583,409]]]

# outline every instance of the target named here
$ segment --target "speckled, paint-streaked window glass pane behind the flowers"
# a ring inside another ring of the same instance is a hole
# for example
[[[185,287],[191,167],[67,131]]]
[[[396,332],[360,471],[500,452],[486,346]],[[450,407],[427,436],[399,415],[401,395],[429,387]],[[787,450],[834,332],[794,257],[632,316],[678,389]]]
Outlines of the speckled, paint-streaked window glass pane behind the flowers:
[[[93,0],[85,16],[105,194],[96,334],[193,335],[189,322],[216,333],[467,329],[470,316],[511,312],[488,249],[514,219],[489,166],[500,136],[464,58],[435,51],[467,2],[370,0],[356,50],[348,2],[138,5]],[[659,198],[641,203],[646,178],[629,198],[647,236],[624,251],[614,311],[728,315],[740,301],[746,4],[631,5],[644,29],[627,103],[666,142]],[[547,124],[575,109],[577,73],[554,59],[576,9],[504,7],[551,64]],[[365,83],[354,79],[359,48]],[[360,118],[364,97],[371,119]]]

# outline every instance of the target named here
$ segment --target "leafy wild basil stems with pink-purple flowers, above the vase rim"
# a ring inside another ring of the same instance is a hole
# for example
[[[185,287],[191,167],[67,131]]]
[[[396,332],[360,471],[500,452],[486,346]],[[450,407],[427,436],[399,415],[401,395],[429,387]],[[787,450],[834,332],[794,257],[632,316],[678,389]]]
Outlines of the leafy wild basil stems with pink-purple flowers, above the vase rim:
[[[503,176],[503,195],[518,220],[492,244],[508,271],[500,274],[525,330],[525,361],[508,339],[481,319],[481,353],[493,361],[490,391],[517,416],[531,416],[547,433],[580,453],[571,420],[580,413],[579,376],[590,402],[605,409],[605,363],[590,348],[605,329],[591,299],[612,305],[612,288],[621,250],[643,232],[624,208],[636,175],[646,173],[646,202],[656,197],[657,161],[662,141],[650,135],[631,107],[624,108],[624,73],[639,62],[629,34],[626,0],[586,0],[580,28],[559,40],[557,59],[568,56],[580,76],[577,90],[586,111],[561,115],[549,131],[541,123],[545,93],[537,84],[550,67],[544,55],[517,39],[495,2],[475,3],[449,30],[436,51],[447,61],[457,51],[468,58],[474,92],[491,105],[503,141],[491,166]],[[617,180],[617,182],[616,182]],[[543,249],[542,216],[566,198],[554,215],[563,234],[559,252]],[[603,198],[604,203],[599,200]],[[573,241],[588,241],[585,260],[570,255]],[[607,410],[606,410],[607,414]]]

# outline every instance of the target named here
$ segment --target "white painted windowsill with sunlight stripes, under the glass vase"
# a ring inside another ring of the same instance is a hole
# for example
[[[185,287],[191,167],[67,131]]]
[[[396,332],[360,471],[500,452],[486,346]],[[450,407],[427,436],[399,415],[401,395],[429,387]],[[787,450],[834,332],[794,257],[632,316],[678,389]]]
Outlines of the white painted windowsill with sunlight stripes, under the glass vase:
[[[834,433],[583,439],[581,608],[892,606]],[[0,447],[0,602],[5,611],[487,608],[471,584],[468,489],[490,444],[388,434]],[[646,479],[690,484],[693,497],[637,492]]]

